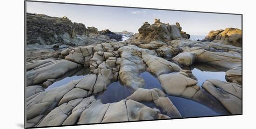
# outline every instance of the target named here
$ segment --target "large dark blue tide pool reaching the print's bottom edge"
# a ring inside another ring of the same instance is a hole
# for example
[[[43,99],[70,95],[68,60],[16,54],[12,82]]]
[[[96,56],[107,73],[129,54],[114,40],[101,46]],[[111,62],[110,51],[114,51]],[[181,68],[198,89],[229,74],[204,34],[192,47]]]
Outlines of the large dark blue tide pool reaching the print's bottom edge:
[[[218,114],[208,107],[196,103],[192,100],[182,97],[168,96],[175,107],[179,110],[182,117],[197,117],[197,116],[218,116]]]

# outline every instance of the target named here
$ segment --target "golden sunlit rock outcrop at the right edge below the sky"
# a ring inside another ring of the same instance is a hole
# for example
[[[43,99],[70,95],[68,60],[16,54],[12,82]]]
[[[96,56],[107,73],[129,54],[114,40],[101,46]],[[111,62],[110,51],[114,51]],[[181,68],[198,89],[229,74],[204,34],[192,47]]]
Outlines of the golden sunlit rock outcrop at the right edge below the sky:
[[[201,41],[213,41],[225,45],[242,46],[242,30],[238,28],[226,28],[225,30],[210,31]]]

